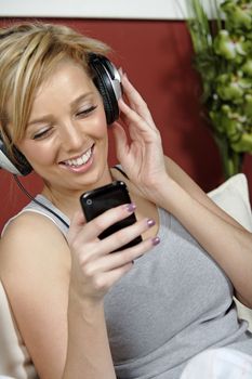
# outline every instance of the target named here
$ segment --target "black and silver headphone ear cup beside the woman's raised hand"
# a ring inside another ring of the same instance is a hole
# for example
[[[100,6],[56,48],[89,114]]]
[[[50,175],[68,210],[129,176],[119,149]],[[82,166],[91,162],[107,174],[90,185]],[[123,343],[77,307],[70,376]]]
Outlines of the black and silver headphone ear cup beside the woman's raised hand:
[[[89,64],[94,73],[94,84],[103,97],[107,123],[110,125],[119,117],[118,100],[122,93],[120,75],[103,55],[90,54]]]

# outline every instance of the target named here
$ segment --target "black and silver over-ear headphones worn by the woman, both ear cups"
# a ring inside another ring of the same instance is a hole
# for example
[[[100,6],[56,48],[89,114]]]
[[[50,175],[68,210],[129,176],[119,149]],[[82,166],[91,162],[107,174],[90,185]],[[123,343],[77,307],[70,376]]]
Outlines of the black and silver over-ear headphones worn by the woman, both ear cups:
[[[111,125],[119,117],[118,100],[122,95],[120,74],[116,66],[104,55],[89,54],[89,66],[94,74],[94,84],[102,95],[107,125]],[[15,161],[8,154],[5,144],[0,135],[0,168],[16,175],[27,175],[32,167],[24,155],[14,146]]]

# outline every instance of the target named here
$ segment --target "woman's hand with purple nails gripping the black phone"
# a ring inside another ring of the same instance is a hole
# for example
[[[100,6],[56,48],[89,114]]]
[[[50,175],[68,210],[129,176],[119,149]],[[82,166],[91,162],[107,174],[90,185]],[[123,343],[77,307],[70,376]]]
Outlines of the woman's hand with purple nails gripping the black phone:
[[[88,223],[81,211],[74,215],[67,235],[72,259],[70,284],[81,301],[102,301],[109,288],[131,270],[133,261],[157,243],[149,238],[112,252],[151,227],[154,222],[148,219],[136,221],[104,239],[98,238],[104,230],[133,211],[132,205],[119,206]]]

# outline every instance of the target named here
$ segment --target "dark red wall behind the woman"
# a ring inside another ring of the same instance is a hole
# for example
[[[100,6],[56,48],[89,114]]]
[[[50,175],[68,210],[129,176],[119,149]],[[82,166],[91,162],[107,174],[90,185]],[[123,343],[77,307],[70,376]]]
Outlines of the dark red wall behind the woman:
[[[0,25],[17,19],[0,18]],[[48,22],[52,19],[48,18]],[[204,191],[223,181],[218,152],[200,118],[200,82],[191,68],[190,38],[184,22],[53,19],[72,26],[112,47],[112,60],[122,66],[148,103],[163,139],[164,153],[187,171]],[[116,158],[110,151],[110,161]],[[252,191],[252,156],[243,172]],[[41,183],[35,174],[22,179],[31,194]],[[0,171],[0,228],[27,198],[12,177]]]

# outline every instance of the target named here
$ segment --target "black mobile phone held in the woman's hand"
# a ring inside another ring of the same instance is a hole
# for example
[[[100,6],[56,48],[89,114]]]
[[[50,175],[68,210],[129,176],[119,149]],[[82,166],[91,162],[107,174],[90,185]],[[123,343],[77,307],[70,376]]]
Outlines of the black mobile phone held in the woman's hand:
[[[80,202],[85,215],[85,220],[91,221],[110,208],[123,204],[130,204],[131,198],[125,183],[122,181],[115,181],[110,184],[83,193],[80,196]],[[119,231],[120,228],[129,226],[135,222],[135,214],[131,213],[125,219],[106,228],[103,233],[100,234],[98,237],[103,239],[109,236],[110,234]],[[122,246],[118,250],[132,247],[141,241],[142,237],[138,236],[136,238],[133,238],[129,244]]]

